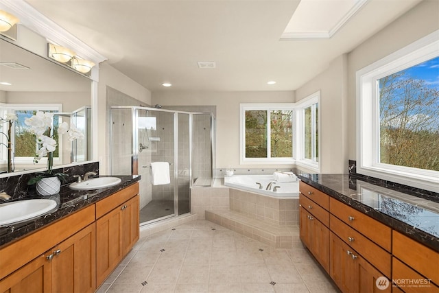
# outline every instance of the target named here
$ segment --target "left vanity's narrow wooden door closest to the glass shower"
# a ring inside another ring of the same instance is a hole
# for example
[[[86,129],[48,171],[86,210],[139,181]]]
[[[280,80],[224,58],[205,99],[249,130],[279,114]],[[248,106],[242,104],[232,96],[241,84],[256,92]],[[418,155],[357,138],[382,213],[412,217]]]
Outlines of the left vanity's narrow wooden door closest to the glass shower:
[[[126,255],[139,240],[139,196],[123,204],[121,220],[123,255]]]

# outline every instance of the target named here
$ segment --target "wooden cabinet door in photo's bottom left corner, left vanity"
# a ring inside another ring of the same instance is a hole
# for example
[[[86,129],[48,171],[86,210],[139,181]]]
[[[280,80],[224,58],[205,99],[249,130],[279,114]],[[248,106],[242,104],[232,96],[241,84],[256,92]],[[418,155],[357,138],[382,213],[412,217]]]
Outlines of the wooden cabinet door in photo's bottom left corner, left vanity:
[[[51,262],[40,255],[0,281],[1,293],[51,292]]]

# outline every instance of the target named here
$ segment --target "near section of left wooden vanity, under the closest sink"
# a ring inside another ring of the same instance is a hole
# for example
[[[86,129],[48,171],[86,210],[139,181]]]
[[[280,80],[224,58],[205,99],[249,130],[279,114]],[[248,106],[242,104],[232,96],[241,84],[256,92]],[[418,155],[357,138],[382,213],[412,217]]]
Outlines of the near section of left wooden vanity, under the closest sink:
[[[0,292],[94,292],[94,218],[93,204],[2,248]]]

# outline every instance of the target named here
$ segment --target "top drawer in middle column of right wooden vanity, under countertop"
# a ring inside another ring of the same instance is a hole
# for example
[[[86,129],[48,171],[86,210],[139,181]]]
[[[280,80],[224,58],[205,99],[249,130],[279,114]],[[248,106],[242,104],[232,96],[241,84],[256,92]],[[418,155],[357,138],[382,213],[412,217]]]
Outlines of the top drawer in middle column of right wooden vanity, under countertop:
[[[330,198],[329,202],[329,211],[333,215],[348,224],[348,226],[355,228],[359,233],[365,235],[385,250],[391,251],[392,229],[390,227],[385,226],[385,224],[370,218],[368,215],[349,207],[335,198]]]

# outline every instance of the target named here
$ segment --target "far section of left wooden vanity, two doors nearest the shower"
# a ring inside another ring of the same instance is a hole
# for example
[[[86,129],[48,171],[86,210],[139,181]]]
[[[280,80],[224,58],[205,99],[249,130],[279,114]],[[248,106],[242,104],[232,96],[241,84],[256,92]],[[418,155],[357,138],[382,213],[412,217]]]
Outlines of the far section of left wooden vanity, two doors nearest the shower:
[[[104,282],[139,239],[139,183],[96,203],[96,278]]]

